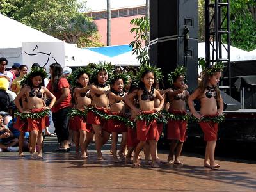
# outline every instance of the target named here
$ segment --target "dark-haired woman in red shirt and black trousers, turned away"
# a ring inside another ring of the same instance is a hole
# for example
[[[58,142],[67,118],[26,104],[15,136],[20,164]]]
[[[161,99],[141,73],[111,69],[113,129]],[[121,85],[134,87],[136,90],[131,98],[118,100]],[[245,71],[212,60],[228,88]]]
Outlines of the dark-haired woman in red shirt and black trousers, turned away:
[[[57,151],[68,152],[70,150],[68,145],[68,109],[71,103],[70,85],[62,76],[62,67],[58,63],[50,65],[51,80],[47,88],[56,97],[56,102],[52,107],[52,120],[56,130],[58,143],[60,148]]]

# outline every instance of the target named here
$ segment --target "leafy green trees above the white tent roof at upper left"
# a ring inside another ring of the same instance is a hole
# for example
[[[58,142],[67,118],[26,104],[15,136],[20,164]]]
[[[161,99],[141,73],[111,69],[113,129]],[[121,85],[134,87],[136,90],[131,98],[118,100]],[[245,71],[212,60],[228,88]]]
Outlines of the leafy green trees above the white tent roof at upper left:
[[[92,18],[79,12],[85,1],[77,0],[1,0],[1,13],[49,35],[76,43],[97,31]]]

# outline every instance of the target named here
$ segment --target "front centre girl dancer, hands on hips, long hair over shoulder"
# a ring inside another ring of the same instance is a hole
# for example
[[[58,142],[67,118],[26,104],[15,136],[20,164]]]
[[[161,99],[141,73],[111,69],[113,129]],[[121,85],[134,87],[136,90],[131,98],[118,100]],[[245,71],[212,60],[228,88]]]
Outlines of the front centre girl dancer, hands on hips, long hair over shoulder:
[[[125,98],[125,102],[136,113],[136,129],[137,138],[140,143],[137,145],[133,157],[134,166],[140,166],[138,157],[141,149],[146,142],[149,142],[150,153],[152,156],[152,167],[156,167],[156,141],[159,139],[157,131],[157,112],[163,108],[164,100],[158,90],[154,89],[155,79],[159,81],[161,72],[159,68],[150,66],[149,64],[141,65],[138,70],[138,79],[140,79],[139,89],[129,93]],[[134,97],[139,98],[139,109],[131,102]],[[157,97],[160,100],[158,108],[154,108],[154,99]]]

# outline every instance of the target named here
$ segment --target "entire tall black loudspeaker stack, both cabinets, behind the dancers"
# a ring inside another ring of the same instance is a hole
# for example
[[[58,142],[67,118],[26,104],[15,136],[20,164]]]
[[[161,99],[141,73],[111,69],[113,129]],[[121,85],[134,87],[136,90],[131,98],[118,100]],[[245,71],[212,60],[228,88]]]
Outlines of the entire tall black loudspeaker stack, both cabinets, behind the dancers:
[[[189,39],[185,38],[185,27]],[[185,47],[185,49],[184,49]],[[150,63],[166,74],[178,65],[187,68],[188,90],[195,90],[198,82],[198,1],[150,1]]]

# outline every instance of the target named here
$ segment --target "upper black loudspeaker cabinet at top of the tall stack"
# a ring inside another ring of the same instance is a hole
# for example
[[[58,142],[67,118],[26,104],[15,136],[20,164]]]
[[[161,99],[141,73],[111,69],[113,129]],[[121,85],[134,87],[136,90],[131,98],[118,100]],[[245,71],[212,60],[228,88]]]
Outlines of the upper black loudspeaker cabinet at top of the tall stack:
[[[150,0],[150,41],[168,36],[198,38],[198,0]]]

